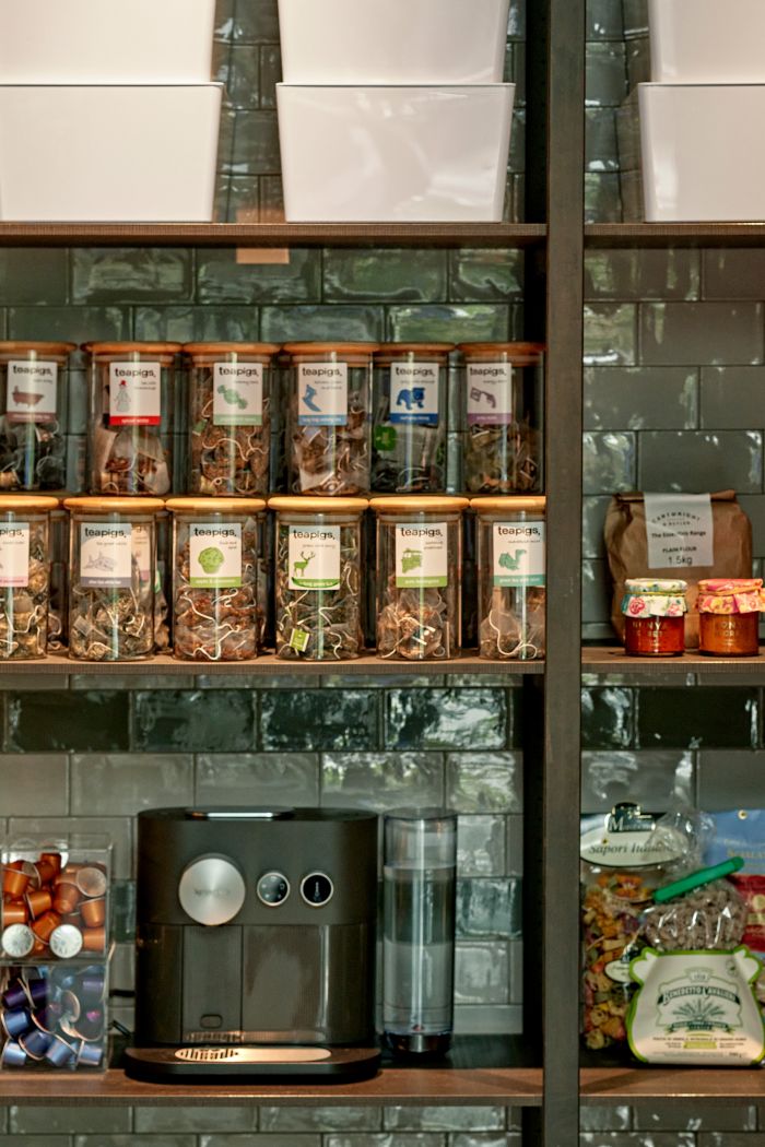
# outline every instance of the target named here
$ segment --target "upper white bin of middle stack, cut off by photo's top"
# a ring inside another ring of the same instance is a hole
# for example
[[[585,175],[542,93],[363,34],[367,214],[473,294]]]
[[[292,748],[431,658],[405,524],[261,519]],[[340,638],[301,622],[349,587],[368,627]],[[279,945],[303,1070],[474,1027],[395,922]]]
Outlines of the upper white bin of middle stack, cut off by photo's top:
[[[279,0],[286,84],[497,84],[509,0]]]

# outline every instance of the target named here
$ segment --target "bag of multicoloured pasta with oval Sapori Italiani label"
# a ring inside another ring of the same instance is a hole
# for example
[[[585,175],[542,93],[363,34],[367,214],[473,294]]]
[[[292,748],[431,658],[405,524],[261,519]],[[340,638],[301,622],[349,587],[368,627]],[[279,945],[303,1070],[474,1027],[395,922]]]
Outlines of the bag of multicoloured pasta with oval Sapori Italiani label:
[[[709,820],[676,812],[657,818],[618,804],[581,826],[583,1041],[626,1051],[626,1014],[635,984],[630,960],[645,946],[642,915],[658,887],[698,867]]]

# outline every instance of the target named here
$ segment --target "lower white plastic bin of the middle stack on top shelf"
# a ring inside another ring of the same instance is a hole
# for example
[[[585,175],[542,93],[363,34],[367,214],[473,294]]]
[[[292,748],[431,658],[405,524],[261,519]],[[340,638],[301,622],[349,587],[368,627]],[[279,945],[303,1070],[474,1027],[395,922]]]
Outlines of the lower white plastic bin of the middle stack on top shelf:
[[[501,220],[514,92],[278,84],[286,218]]]

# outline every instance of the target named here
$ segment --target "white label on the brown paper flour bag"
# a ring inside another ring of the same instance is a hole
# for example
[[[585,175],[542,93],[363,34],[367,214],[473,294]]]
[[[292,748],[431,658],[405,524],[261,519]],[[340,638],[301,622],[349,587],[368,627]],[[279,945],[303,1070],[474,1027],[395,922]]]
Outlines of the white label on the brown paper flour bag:
[[[643,494],[648,569],[709,567],[715,562],[709,494]]]

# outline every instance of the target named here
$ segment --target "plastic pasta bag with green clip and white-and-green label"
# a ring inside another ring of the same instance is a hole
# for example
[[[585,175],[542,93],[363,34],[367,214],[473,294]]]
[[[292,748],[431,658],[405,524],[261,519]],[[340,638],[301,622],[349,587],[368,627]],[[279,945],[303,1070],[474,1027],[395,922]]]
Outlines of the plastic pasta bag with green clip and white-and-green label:
[[[656,889],[646,947],[630,965],[630,1050],[646,1063],[749,1066],[765,1055],[752,984],[760,962],[741,944],[747,907],[727,876],[740,857]]]

